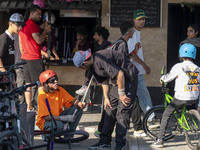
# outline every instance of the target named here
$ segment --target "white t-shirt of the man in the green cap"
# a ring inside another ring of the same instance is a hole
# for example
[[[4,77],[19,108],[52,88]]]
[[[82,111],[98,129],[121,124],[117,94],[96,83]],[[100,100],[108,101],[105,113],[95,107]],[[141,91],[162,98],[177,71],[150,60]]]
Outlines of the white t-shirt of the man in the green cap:
[[[135,29],[135,32],[133,33],[133,37],[130,38],[128,40],[128,50],[129,50],[129,54],[135,49],[135,44],[140,42],[141,43],[141,40],[140,40],[140,31],[136,30]],[[137,55],[138,57],[144,61],[144,56],[143,56],[143,51],[142,51],[142,45],[141,45],[141,48],[138,50],[137,52]],[[135,60],[131,59],[131,62],[134,63],[135,67],[138,69],[139,71],[139,74],[146,74],[144,68],[142,67],[142,65],[140,65],[138,62],[136,62]]]

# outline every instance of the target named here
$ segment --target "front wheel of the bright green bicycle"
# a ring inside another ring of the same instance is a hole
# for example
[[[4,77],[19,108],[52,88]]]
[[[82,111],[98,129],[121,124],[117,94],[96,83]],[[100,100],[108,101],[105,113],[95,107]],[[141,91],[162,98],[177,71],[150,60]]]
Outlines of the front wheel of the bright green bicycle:
[[[154,106],[149,109],[143,118],[143,130],[144,132],[152,139],[156,139],[158,133],[160,131],[160,124],[162,120],[163,112],[165,111],[165,107],[162,105]],[[152,118],[153,119],[150,119]],[[163,140],[169,140],[174,137],[172,134],[173,131],[177,129],[177,119],[174,114],[170,117],[166,130],[165,130],[165,137]]]

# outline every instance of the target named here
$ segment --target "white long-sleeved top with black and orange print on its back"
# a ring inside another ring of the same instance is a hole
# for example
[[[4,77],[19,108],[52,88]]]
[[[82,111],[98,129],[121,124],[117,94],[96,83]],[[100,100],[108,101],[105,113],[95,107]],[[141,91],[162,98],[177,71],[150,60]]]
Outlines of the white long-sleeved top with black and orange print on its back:
[[[199,97],[200,68],[191,61],[177,63],[163,75],[164,82],[175,80],[175,95],[179,100],[196,100]]]

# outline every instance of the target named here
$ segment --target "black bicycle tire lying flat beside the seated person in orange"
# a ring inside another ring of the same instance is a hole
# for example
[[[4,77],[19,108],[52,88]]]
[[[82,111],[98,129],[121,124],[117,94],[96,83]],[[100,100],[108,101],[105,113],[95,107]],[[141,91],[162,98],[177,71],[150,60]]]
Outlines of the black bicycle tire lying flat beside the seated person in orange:
[[[89,137],[89,133],[82,130],[76,130],[72,132],[68,132],[62,136],[57,136],[54,138],[56,143],[79,143],[81,141],[87,140]]]

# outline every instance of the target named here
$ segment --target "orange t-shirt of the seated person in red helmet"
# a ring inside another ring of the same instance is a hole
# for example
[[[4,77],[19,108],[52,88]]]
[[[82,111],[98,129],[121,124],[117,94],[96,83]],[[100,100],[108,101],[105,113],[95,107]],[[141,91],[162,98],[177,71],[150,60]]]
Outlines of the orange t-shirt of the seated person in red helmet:
[[[75,98],[72,97],[65,89],[58,87],[55,93],[45,93],[43,90],[38,95],[38,116],[36,125],[43,130],[44,128],[44,117],[49,115],[49,111],[46,105],[45,98],[48,99],[51,113],[53,116],[59,116],[63,111],[63,106],[69,108],[72,103],[71,101]]]

